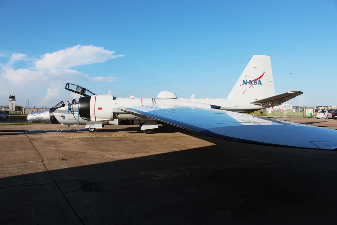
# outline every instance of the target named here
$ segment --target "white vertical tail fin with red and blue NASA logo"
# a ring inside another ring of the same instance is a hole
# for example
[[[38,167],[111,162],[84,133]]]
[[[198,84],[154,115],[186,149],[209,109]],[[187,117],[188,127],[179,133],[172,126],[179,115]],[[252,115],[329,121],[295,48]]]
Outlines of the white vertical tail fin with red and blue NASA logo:
[[[227,99],[256,100],[275,95],[270,56],[253,55]]]

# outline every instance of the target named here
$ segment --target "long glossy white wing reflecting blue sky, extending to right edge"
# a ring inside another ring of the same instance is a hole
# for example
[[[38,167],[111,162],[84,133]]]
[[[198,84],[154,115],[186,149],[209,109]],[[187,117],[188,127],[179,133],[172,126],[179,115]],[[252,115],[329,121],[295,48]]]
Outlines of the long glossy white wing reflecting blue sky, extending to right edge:
[[[118,107],[208,136],[266,145],[337,149],[337,131],[216,109],[175,106]]]

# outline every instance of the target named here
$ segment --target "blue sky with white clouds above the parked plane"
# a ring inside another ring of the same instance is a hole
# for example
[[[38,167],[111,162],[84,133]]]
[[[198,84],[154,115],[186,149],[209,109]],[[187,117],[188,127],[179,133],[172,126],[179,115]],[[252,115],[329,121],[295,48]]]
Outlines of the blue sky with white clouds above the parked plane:
[[[255,54],[271,56],[276,93],[292,73],[286,88],[304,94],[287,103],[337,105],[334,0],[0,0],[0,15],[2,105],[15,94],[51,107],[75,97],[67,82],[118,97],[226,97]]]

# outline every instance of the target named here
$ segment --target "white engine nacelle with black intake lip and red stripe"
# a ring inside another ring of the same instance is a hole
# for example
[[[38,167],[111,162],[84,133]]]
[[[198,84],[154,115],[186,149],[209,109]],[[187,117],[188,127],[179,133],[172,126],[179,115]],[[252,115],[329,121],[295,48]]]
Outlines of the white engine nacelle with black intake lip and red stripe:
[[[114,96],[91,95],[79,99],[80,117],[91,121],[111,121],[113,119]]]

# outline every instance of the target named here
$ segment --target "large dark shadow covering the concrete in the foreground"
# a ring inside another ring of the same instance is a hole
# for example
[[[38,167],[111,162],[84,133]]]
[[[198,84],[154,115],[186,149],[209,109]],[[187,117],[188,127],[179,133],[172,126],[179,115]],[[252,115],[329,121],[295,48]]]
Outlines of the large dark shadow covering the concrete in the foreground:
[[[335,223],[335,152],[189,133],[215,145],[0,178],[0,223]]]

